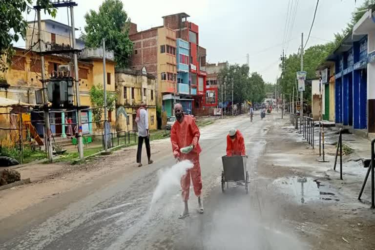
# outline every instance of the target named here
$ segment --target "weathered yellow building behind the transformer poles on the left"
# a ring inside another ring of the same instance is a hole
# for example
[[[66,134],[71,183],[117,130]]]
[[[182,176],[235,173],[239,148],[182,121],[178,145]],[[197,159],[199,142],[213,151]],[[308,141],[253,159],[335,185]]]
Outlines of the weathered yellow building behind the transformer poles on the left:
[[[28,104],[36,104],[35,91],[42,88],[42,65],[39,54],[33,51],[27,51],[20,48],[16,49],[16,55],[12,58],[12,63],[6,72],[0,74],[0,96],[8,99],[21,101]],[[103,85],[103,59],[100,55],[101,49],[83,50],[78,62],[79,79],[80,79],[80,101],[82,108],[90,108],[91,101],[89,96],[90,88],[93,85]],[[98,54],[99,53],[99,54]],[[103,54],[103,52],[102,52]],[[100,56],[99,56],[100,55]],[[115,62],[113,52],[106,52],[106,88],[107,91],[116,94],[115,92]],[[103,58],[103,57],[102,57]],[[51,75],[58,70],[59,65],[71,66],[71,74],[74,76],[74,70],[70,58],[64,55],[48,55],[44,57],[45,79],[49,79]],[[48,84],[48,83],[47,83]],[[7,112],[10,108],[6,109]],[[62,125],[67,120],[71,119],[75,123],[75,112],[63,112],[66,110],[53,110],[50,113],[51,130],[55,137],[66,137],[66,135],[73,135],[74,125],[72,130],[66,125]],[[40,135],[43,134],[43,113],[32,112],[30,120],[38,130]],[[95,123],[92,122],[92,111],[82,111],[83,133],[92,134],[101,132],[101,129],[96,128]],[[111,123],[111,128],[115,130],[116,116],[113,112],[108,112],[108,120]],[[9,127],[9,116],[0,117],[0,126]],[[69,130],[69,131],[65,131]]]

